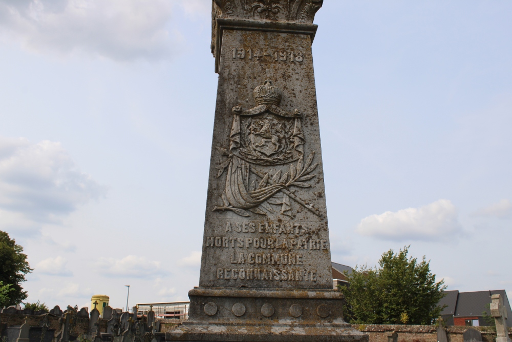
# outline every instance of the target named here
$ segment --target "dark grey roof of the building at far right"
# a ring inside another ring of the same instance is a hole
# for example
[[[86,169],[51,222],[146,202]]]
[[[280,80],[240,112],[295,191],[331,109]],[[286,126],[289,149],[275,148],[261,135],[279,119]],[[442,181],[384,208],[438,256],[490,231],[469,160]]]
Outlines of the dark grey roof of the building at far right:
[[[510,310],[510,303],[508,303],[508,297],[505,290],[459,292],[454,316],[482,316],[482,312],[486,311],[486,305],[491,302],[490,296],[498,293],[501,294],[503,304],[507,309],[507,321],[512,319],[512,311]],[[487,312],[487,314],[490,314],[490,312]]]

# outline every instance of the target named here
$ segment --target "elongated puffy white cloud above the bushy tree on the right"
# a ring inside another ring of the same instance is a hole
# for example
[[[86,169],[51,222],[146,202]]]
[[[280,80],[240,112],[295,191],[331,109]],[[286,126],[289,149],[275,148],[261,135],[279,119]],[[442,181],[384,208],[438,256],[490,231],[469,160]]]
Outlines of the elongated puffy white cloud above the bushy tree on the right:
[[[455,206],[447,199],[420,207],[387,211],[361,220],[357,232],[390,240],[440,240],[461,231]]]

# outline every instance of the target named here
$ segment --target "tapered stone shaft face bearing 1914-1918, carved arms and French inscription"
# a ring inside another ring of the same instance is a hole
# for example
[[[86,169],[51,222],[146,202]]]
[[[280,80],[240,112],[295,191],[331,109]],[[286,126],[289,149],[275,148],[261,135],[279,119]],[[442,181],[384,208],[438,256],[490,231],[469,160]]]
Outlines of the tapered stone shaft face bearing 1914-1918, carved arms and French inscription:
[[[310,37],[225,30],[221,66],[199,285],[330,289]]]

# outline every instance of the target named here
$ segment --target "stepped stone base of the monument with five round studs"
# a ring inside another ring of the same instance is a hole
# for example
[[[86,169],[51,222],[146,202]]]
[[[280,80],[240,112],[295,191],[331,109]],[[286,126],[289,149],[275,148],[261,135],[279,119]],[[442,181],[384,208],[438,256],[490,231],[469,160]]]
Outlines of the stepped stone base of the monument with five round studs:
[[[343,320],[343,294],[320,289],[195,288],[174,341],[368,342]]]

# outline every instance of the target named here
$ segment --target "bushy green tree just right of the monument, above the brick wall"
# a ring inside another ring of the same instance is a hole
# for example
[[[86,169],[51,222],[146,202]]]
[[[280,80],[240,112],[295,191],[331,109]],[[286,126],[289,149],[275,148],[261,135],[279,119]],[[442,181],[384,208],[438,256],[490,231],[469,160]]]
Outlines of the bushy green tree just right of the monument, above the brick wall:
[[[346,274],[345,319],[355,324],[431,324],[442,308],[443,280],[436,283],[430,260],[408,257],[409,247],[382,254],[379,267]]]

